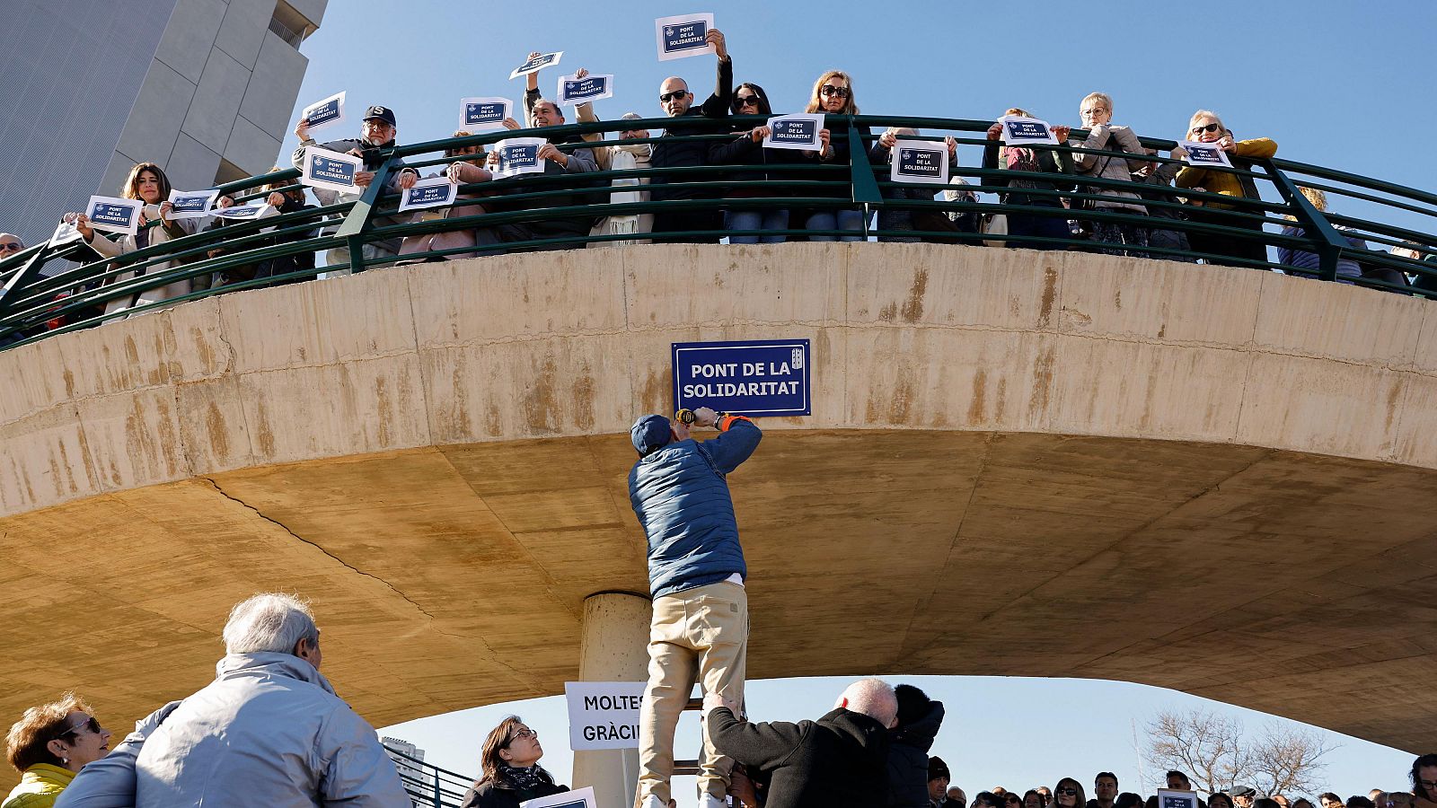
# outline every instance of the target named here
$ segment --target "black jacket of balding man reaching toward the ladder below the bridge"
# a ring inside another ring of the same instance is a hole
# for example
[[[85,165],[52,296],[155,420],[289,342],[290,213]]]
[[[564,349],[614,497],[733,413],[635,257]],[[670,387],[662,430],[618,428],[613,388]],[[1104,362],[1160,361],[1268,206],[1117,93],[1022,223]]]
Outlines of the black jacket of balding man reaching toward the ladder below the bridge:
[[[888,801],[888,730],[836,709],[816,722],[740,722],[708,712],[714,749],[772,775],[767,808],[874,808]]]

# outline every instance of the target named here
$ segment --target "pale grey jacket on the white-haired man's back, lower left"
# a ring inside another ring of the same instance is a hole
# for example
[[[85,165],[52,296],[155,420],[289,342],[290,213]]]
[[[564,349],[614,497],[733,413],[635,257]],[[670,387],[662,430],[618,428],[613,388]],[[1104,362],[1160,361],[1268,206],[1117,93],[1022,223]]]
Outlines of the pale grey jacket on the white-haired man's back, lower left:
[[[374,727],[312,664],[285,653],[230,654],[135,758],[131,805],[407,808]]]

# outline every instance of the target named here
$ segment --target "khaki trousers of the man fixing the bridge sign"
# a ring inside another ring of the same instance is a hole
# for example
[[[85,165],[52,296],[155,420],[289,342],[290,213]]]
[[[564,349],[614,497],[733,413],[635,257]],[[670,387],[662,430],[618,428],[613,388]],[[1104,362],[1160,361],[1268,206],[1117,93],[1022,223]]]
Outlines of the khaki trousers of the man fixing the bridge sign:
[[[674,727],[694,681],[704,693],[743,703],[749,656],[749,594],[727,581],[654,598],[648,633],[648,686],[638,717],[638,791],[635,808],[650,794],[668,804],[674,773]],[[733,759],[717,755],[704,729],[698,791],[723,799]]]

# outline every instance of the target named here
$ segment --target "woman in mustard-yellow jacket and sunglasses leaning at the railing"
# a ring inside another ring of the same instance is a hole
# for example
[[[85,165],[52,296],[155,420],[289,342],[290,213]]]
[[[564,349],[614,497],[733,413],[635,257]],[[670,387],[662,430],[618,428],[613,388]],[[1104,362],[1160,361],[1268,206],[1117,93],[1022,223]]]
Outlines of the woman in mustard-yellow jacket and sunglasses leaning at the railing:
[[[1233,139],[1232,131],[1223,125],[1223,119],[1217,116],[1217,112],[1207,109],[1198,109],[1193,114],[1191,121],[1188,121],[1186,139],[1216,144],[1230,158],[1239,158],[1233,161],[1234,168],[1250,168],[1250,160],[1277,154],[1277,144],[1269,138],[1255,138],[1250,141]],[[1181,147],[1173,151],[1173,157],[1181,158],[1186,155],[1187,152]],[[1217,168],[1200,168],[1197,165],[1187,165],[1177,173],[1177,187],[1203,190],[1210,194],[1223,194],[1233,198],[1259,198],[1257,185],[1252,178]],[[1233,259],[1267,260],[1267,246],[1262,242],[1262,223],[1233,216],[1233,211],[1262,213],[1259,208],[1204,201],[1201,207],[1194,207],[1190,219],[1204,224],[1250,230],[1253,233],[1252,237],[1193,231],[1187,234],[1193,252]]]

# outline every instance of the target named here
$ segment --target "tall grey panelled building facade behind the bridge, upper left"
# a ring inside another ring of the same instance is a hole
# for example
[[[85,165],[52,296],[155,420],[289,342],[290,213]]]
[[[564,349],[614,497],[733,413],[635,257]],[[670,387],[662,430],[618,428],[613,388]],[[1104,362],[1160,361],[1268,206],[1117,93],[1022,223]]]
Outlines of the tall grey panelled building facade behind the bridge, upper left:
[[[135,162],[185,191],[267,171],[326,4],[0,3],[0,230],[39,243]]]

